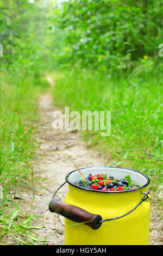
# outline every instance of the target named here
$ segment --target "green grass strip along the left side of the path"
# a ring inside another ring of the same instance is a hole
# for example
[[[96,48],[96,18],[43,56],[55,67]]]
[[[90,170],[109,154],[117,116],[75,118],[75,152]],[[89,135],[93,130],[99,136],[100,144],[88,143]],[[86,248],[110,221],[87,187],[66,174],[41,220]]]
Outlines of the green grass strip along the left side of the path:
[[[38,238],[31,227],[35,216],[19,209],[19,191],[33,187],[30,166],[34,156],[37,98],[43,90],[33,77],[3,72],[0,81],[0,185],[3,198],[0,208],[0,243],[8,237],[22,245],[33,245]],[[45,83],[45,82],[44,82]],[[22,190],[20,189],[22,188]],[[28,206],[28,205],[27,205]]]

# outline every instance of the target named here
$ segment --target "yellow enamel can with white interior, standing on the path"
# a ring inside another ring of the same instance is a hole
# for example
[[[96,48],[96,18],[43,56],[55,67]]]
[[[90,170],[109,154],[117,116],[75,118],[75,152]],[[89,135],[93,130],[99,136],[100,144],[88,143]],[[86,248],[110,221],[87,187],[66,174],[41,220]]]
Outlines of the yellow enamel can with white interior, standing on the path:
[[[93,215],[100,215],[103,222],[99,228],[92,229],[73,221],[74,213],[71,211],[69,219],[65,217],[65,245],[149,245],[150,196],[146,193],[148,176],[121,167],[86,167],[80,171],[85,178],[89,174],[98,173],[107,173],[116,179],[130,175],[131,180],[141,186],[135,190],[92,191],[75,185],[81,178],[77,170],[67,174],[69,191],[65,205],[70,205],[70,209],[71,206],[77,206]],[[145,194],[148,196],[146,200],[142,200]]]

